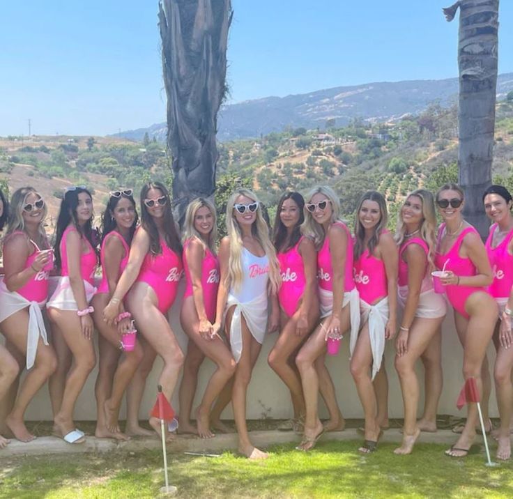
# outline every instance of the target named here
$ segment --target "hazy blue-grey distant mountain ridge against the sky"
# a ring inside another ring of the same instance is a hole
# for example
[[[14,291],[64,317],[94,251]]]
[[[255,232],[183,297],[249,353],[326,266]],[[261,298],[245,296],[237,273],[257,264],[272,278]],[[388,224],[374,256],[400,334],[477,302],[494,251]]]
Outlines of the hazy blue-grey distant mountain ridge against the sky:
[[[513,72],[499,75],[497,97],[513,90]],[[281,132],[286,127],[324,128],[326,120],[346,125],[351,118],[388,121],[404,114],[417,114],[430,102],[448,105],[457,98],[458,79],[418,79],[404,82],[375,82],[354,86],[337,86],[286,97],[266,97],[224,105],[220,109],[217,139],[229,141]],[[165,141],[167,124],[137,128],[115,134],[142,140],[145,133]]]

